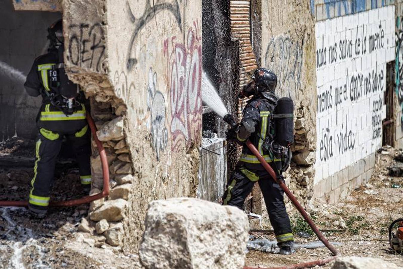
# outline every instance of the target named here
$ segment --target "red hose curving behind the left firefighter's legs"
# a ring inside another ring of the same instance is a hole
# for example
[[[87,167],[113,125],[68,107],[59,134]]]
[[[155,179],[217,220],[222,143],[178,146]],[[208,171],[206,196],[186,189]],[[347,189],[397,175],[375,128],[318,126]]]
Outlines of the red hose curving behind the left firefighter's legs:
[[[89,202],[104,198],[109,195],[109,165],[108,159],[106,158],[106,152],[104,146],[102,146],[101,141],[98,140],[96,131],[97,128],[91,115],[87,112],[87,122],[89,128],[91,128],[92,136],[97,144],[98,151],[100,153],[101,164],[102,164],[102,175],[104,177],[104,189],[101,193],[92,196],[85,196],[80,199],[67,200],[67,201],[51,201],[50,206],[77,206],[80,204],[87,204]],[[28,206],[28,201],[0,201],[0,206]]]

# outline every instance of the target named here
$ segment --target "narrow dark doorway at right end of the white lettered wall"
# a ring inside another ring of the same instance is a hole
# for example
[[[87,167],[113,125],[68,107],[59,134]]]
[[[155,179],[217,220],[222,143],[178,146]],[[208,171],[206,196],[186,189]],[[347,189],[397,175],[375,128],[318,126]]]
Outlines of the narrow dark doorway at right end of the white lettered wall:
[[[382,122],[382,146],[389,145],[393,147],[395,141],[395,122],[393,120],[393,95],[395,80],[395,62],[386,64],[386,91],[384,92],[384,100],[386,105],[386,118]]]

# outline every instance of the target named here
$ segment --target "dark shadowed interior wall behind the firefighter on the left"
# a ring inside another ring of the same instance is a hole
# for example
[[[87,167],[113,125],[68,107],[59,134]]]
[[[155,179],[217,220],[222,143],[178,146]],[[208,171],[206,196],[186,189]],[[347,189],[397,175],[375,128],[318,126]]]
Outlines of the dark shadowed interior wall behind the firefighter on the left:
[[[35,139],[41,97],[23,86],[36,57],[47,52],[48,27],[60,13],[15,11],[11,1],[0,8],[0,141],[14,135]]]

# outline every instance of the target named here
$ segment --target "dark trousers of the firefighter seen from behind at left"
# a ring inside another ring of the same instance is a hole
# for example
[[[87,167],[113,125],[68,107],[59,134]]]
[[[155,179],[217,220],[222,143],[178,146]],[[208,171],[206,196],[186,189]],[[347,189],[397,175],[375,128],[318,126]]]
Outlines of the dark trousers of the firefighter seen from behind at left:
[[[75,132],[52,132],[40,128],[35,145],[34,175],[29,192],[29,209],[34,212],[46,213],[47,211],[56,159],[62,146],[63,136],[70,142],[75,153],[81,184],[91,184],[91,130],[89,127],[86,125]]]

